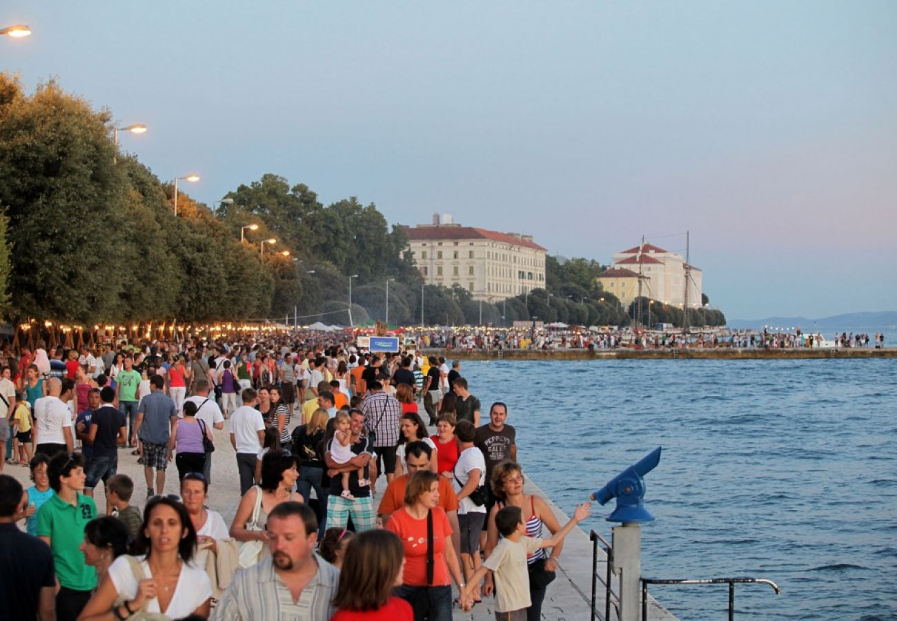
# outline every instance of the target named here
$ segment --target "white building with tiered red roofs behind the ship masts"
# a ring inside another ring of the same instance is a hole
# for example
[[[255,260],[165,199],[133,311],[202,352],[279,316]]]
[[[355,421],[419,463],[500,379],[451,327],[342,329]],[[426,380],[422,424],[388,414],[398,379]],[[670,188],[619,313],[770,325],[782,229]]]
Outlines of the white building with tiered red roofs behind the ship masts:
[[[685,275],[690,275],[688,307],[701,308],[703,293],[703,272],[698,267],[689,266],[680,254],[658,248],[653,244],[635,246],[614,254],[614,267],[605,270],[598,277],[605,291],[614,293],[621,302],[628,303],[638,296],[639,275],[642,276],[642,297],[683,308],[685,296]],[[632,276],[618,274],[620,270]],[[621,292],[626,290],[623,298]]]

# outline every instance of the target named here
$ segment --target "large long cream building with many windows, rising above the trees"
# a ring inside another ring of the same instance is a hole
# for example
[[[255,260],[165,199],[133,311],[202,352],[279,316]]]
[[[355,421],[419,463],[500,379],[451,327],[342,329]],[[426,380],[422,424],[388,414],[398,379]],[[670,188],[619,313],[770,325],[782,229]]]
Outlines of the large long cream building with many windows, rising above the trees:
[[[462,226],[448,214],[405,232],[426,284],[457,284],[485,302],[545,287],[545,249],[532,235]]]

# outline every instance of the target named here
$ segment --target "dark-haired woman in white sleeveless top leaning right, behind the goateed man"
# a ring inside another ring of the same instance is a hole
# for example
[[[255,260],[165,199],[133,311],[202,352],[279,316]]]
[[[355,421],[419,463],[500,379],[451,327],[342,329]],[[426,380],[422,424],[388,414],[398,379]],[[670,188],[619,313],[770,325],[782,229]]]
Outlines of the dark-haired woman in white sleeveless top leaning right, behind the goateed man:
[[[248,567],[268,554],[265,526],[268,513],[288,500],[304,503],[293,488],[299,479],[298,459],[283,450],[271,450],[262,459],[261,485],[253,485],[239,501],[231,522],[231,537],[241,542],[239,564]]]

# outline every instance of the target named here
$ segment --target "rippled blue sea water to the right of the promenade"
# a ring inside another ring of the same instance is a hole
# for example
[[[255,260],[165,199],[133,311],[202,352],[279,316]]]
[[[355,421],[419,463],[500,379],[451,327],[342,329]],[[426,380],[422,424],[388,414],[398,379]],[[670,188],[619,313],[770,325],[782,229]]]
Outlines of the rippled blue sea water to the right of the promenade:
[[[570,514],[657,446],[642,573],[753,576],[736,617],[897,619],[897,360],[465,362],[509,405],[527,475]],[[583,529],[610,539],[613,507]],[[725,585],[658,586],[683,619]]]

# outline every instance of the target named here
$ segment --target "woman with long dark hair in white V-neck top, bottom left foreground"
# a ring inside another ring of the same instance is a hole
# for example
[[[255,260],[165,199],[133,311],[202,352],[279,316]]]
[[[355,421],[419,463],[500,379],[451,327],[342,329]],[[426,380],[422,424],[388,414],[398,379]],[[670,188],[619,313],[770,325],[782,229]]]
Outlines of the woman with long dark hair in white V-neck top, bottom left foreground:
[[[184,505],[154,496],[144,508],[144,526],[137,535],[139,556],[120,556],[81,613],[79,621],[127,618],[138,612],[177,619],[208,617],[212,583],[192,564],[196,530]],[[124,599],[118,607],[115,602]],[[138,615],[139,617],[139,615]]]

